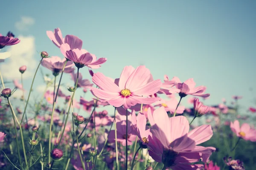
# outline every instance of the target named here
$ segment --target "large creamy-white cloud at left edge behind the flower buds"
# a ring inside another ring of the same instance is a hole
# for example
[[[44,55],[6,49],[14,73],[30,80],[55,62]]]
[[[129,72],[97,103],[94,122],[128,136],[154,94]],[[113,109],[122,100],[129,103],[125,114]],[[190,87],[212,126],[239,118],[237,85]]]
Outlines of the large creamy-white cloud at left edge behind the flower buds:
[[[20,79],[19,68],[22,65],[27,66],[27,70],[23,74],[23,78],[31,78],[34,69],[39,63],[34,59],[35,56],[35,38],[19,36],[20,43],[12,45],[7,50],[11,53],[9,62],[7,60],[1,64],[1,73],[5,79]],[[38,54],[39,57],[39,54]],[[40,57],[39,57],[40,58]]]

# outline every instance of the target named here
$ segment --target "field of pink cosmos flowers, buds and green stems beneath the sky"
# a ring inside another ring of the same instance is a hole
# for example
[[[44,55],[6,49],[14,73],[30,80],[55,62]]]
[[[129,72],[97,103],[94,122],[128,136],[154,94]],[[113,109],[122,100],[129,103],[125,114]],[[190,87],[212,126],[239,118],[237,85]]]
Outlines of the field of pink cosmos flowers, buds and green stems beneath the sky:
[[[63,37],[59,28],[46,36],[63,56],[50,56],[47,49],[38,54],[27,97],[26,65],[17,68],[21,79],[13,81],[15,89],[0,74],[1,170],[256,170],[256,129],[247,123],[253,114],[239,114],[242,96],[232,96],[230,106],[224,99],[207,106],[210,94],[193,78],[154,79],[145,65],[125,66],[120,77],[106,77],[97,68],[107,58],[83,49],[78,37]],[[0,49],[19,42],[11,32],[0,34]],[[0,62],[8,57],[0,53]],[[30,96],[40,67],[52,75],[44,77],[46,89],[35,101]],[[81,73],[88,68],[91,77],[85,79]],[[67,74],[74,82],[66,87],[70,95],[60,89]],[[54,90],[47,90],[51,86]],[[23,95],[14,97],[16,90]],[[93,95],[89,101],[87,94]],[[187,101],[191,108],[182,105]],[[104,109],[108,105],[111,113]]]

